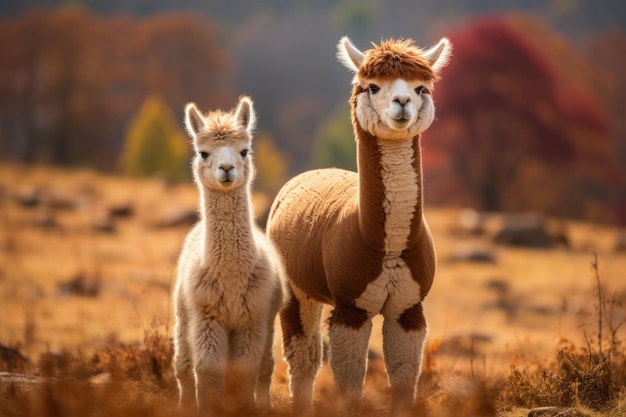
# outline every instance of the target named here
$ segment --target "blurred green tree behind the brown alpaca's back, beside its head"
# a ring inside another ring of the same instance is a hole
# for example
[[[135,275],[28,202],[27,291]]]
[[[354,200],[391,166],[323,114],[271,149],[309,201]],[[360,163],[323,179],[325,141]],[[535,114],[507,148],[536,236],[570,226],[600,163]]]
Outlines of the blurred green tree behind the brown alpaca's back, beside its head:
[[[356,171],[356,144],[350,109],[342,103],[320,127],[313,147],[314,168],[337,167]]]

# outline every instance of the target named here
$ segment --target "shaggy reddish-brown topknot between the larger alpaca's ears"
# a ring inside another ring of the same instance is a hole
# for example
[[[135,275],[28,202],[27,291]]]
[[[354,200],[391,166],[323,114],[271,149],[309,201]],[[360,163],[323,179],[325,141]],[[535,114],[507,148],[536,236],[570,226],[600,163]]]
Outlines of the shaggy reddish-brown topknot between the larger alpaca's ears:
[[[410,39],[389,39],[365,51],[363,64],[359,69],[360,78],[383,80],[436,80],[430,62],[424,51]]]

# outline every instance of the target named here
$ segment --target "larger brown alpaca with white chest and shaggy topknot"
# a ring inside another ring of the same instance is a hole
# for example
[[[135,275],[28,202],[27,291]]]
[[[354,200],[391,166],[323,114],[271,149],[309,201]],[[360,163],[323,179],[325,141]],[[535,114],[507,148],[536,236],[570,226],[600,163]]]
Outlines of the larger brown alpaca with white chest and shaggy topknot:
[[[310,412],[322,357],[322,303],[330,367],[354,411],[363,390],[374,315],[384,316],[383,353],[392,415],[411,408],[427,325],[422,300],[435,274],[423,217],[420,135],[434,118],[433,83],[451,46],[423,51],[389,40],[362,53],[347,37],[340,61],[356,74],[350,99],[358,174],[305,172],[276,197],[268,234],[283,256],[288,301],[280,312],[295,410]]]

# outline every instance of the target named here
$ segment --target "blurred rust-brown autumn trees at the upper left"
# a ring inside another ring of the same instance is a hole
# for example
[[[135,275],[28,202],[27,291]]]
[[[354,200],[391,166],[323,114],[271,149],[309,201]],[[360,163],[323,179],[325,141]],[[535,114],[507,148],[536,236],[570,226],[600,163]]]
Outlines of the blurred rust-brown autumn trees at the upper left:
[[[18,41],[19,40],[19,41]],[[98,17],[77,6],[0,24],[0,152],[63,165],[117,165],[145,97],[172,109],[230,103],[230,58],[191,13]]]

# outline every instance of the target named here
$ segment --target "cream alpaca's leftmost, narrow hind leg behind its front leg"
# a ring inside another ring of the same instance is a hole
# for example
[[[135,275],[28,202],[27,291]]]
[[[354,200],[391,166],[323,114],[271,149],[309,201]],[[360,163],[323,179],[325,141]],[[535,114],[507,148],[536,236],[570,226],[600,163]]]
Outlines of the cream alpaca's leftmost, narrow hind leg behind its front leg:
[[[177,303],[174,326],[174,370],[178,380],[180,405],[190,411],[196,403],[196,379],[193,371],[193,351],[189,343],[189,315],[184,304]]]

